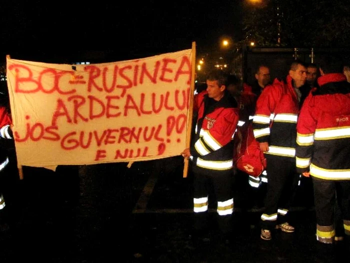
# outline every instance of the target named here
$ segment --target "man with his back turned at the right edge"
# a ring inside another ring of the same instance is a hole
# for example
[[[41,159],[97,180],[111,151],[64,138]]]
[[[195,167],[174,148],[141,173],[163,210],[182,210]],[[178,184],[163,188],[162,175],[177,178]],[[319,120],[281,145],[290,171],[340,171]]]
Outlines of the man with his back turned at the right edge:
[[[338,62],[325,57],[319,89],[306,98],[297,124],[296,167],[312,178],[321,251],[330,248],[339,235],[334,230],[336,199],[350,249],[350,84]]]

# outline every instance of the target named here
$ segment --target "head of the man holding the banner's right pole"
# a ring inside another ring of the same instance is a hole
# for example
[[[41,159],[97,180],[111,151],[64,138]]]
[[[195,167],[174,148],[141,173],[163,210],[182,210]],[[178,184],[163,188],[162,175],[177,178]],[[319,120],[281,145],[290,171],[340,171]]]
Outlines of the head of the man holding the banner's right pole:
[[[206,77],[208,97],[219,101],[226,90],[227,74],[220,70],[210,72]]]

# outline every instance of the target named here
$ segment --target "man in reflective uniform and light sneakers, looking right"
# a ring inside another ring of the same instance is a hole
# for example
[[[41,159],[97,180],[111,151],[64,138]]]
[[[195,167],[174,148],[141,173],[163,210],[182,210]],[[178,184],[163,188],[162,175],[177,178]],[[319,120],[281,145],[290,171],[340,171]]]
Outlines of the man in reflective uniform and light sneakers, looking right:
[[[298,89],[305,81],[305,65],[294,61],[286,79],[266,86],[256,103],[253,132],[266,157],[268,175],[265,210],[260,217],[260,237],[264,240],[271,239],[274,226],[284,232],[294,231],[287,221],[287,212],[298,181],[295,169],[296,121],[301,97]]]

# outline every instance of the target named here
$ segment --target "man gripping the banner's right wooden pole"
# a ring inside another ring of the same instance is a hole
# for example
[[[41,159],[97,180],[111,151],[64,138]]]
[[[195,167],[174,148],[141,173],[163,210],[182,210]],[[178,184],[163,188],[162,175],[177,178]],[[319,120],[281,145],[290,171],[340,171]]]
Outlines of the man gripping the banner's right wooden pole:
[[[226,92],[227,76],[221,71],[211,72],[206,79],[206,91],[194,98],[197,111],[194,142],[181,152],[192,160],[194,174],[194,232],[205,234],[210,185],[217,199],[218,226],[229,238],[233,212],[232,138],[238,123],[238,109]]]

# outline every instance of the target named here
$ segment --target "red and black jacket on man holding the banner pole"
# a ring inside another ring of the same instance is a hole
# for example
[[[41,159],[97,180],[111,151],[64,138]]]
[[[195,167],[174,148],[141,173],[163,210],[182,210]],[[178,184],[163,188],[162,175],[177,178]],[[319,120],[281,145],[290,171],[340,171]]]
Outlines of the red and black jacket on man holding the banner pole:
[[[219,101],[203,91],[194,99],[198,111],[191,159],[195,167],[205,170],[231,170],[233,166],[232,138],[238,123],[238,109],[225,94]]]

